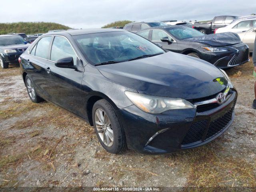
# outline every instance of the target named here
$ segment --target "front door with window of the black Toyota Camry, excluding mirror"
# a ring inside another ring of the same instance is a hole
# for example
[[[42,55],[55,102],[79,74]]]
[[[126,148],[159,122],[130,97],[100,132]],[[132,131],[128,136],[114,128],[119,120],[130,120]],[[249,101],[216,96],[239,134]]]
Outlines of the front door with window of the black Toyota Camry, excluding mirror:
[[[73,57],[74,65],[78,67],[78,70],[55,66],[56,60],[69,56]],[[50,70],[52,102],[84,117],[81,92],[84,67],[66,37],[54,36],[50,60],[51,62],[46,67]]]

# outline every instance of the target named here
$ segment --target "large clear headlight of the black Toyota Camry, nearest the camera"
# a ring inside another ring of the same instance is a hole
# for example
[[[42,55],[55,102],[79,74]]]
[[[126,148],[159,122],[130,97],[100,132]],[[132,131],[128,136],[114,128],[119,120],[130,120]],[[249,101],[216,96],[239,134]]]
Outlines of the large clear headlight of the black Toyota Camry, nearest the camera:
[[[167,98],[125,91],[129,100],[144,112],[159,114],[171,109],[196,108],[190,102],[179,98]]]

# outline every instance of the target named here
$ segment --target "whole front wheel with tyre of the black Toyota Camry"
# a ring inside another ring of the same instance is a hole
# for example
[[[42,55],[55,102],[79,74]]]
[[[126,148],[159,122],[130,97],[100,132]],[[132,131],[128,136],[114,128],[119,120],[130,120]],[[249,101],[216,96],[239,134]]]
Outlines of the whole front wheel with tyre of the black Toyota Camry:
[[[100,144],[110,153],[126,149],[126,138],[116,113],[104,99],[98,100],[92,108],[94,130]]]

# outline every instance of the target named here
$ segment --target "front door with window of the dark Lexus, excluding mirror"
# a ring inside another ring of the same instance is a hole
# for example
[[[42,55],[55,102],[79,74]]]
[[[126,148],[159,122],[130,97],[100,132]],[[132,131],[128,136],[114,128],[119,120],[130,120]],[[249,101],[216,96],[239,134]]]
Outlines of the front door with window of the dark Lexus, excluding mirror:
[[[171,44],[168,44],[168,42],[162,42],[161,39],[162,38],[166,38],[168,37],[168,39],[172,41]],[[178,44],[177,42],[174,40],[174,38],[172,38],[169,34],[167,34],[165,31],[160,30],[160,29],[153,29],[152,33],[151,33],[151,41],[154,43],[158,43],[162,45],[162,48],[173,51],[173,52],[177,52],[177,48],[178,48]]]

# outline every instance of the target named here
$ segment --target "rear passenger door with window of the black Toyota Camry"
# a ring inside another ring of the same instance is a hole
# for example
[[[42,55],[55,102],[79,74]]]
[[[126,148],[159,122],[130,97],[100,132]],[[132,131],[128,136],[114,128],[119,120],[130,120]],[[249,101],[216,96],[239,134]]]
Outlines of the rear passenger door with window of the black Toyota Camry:
[[[52,36],[41,38],[32,50],[29,50],[29,56],[26,58],[28,65],[26,69],[34,83],[36,92],[46,100],[51,100],[50,87],[47,81],[48,71],[46,69],[46,65],[49,63],[48,54],[51,40]]]

